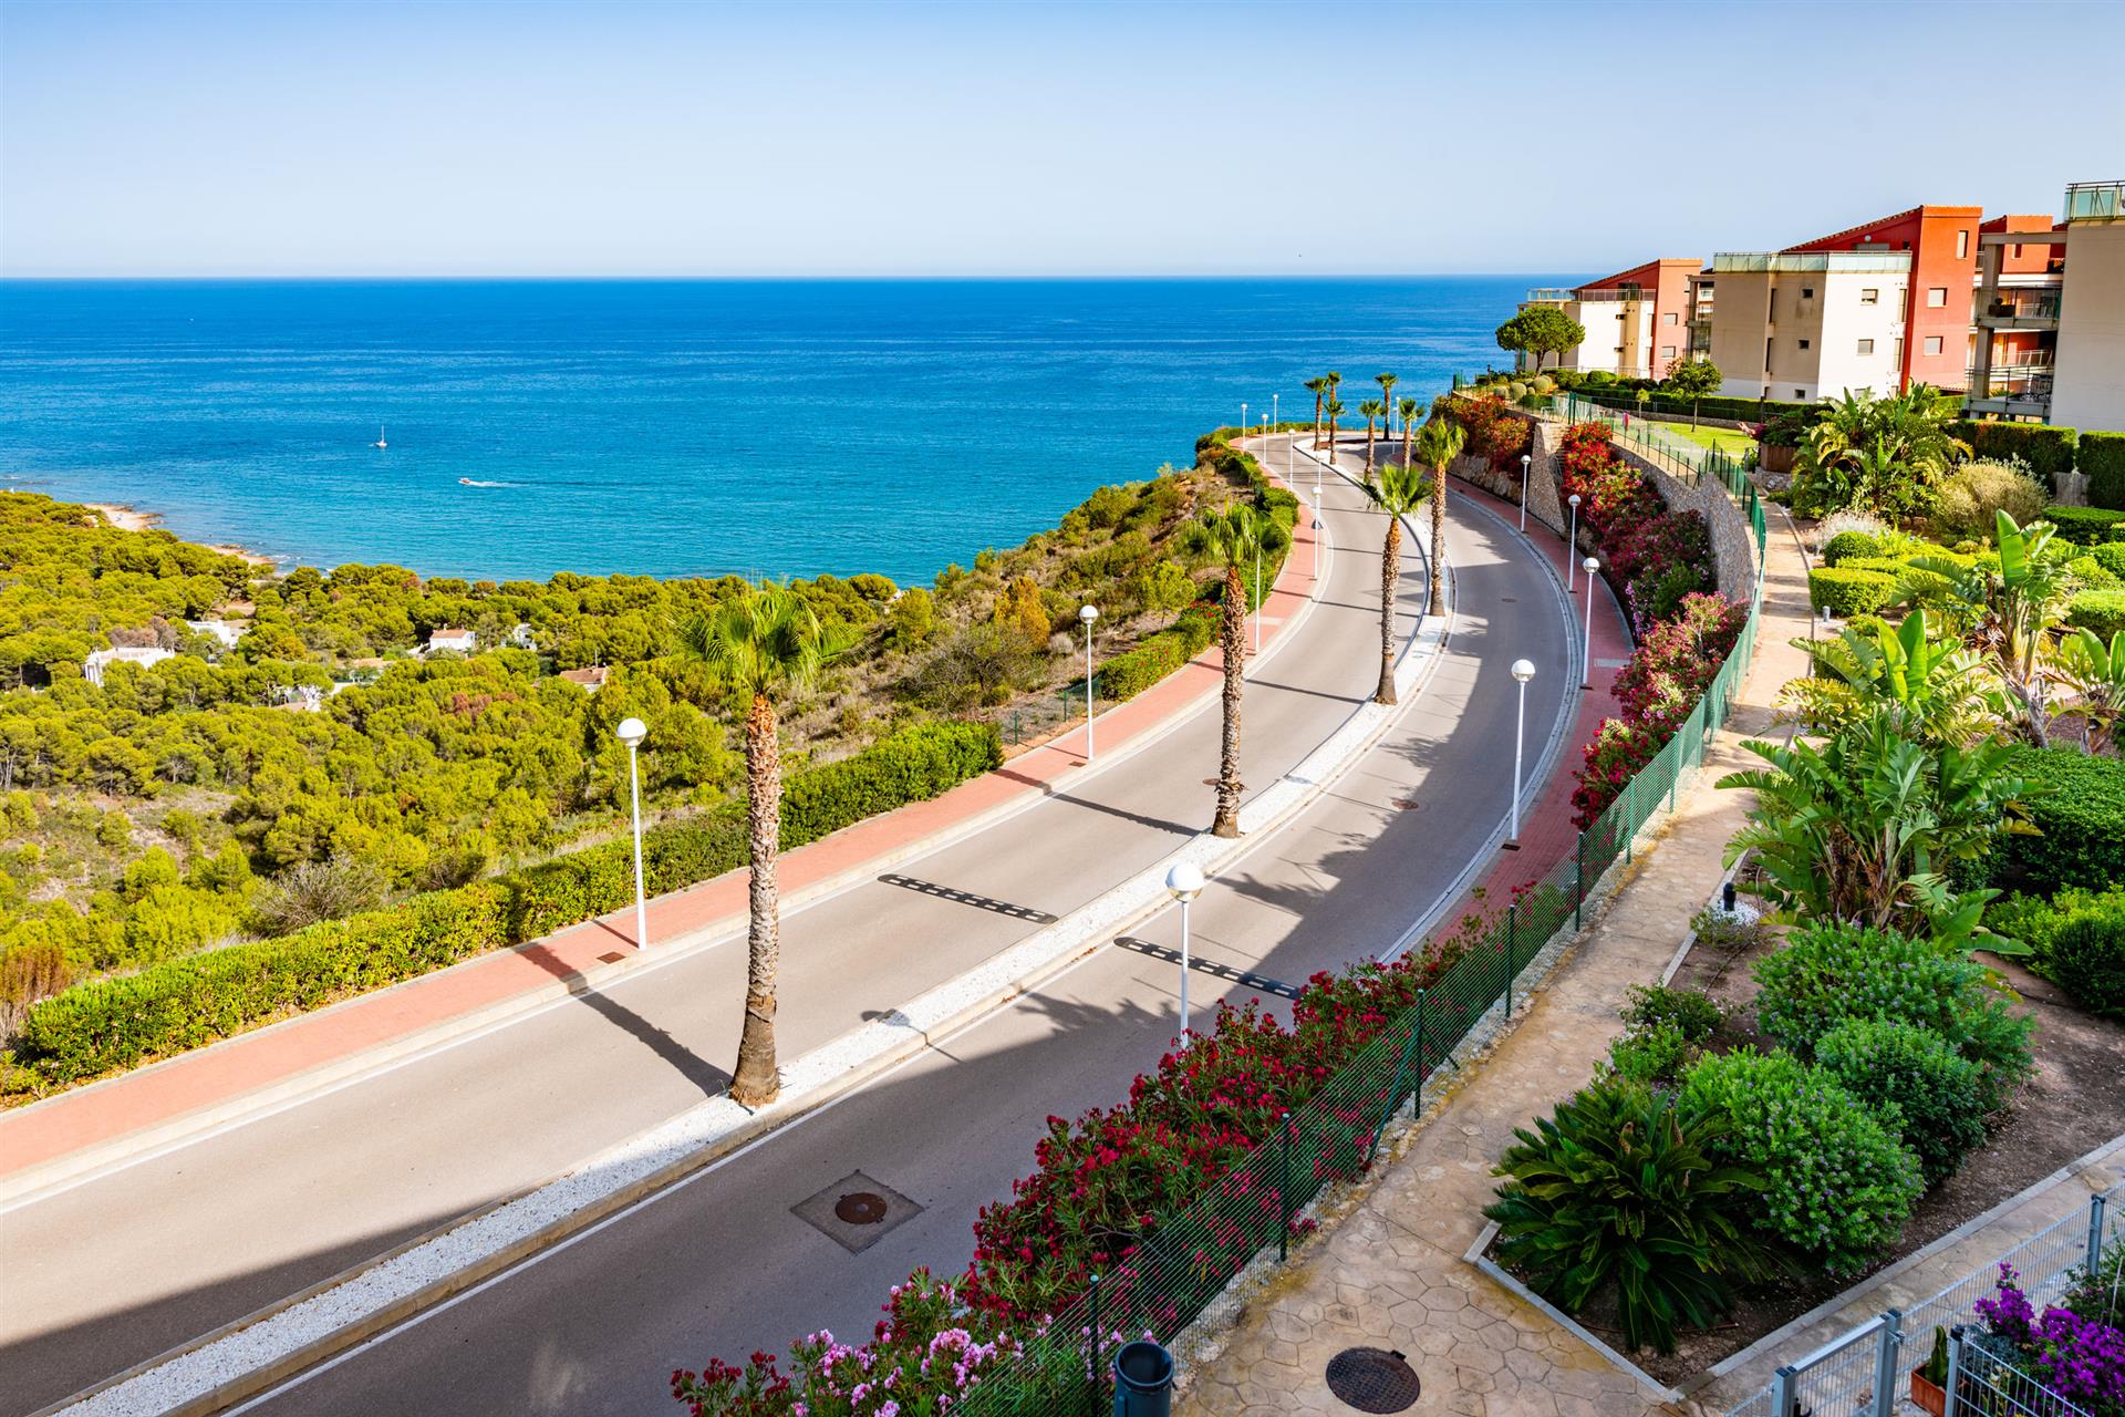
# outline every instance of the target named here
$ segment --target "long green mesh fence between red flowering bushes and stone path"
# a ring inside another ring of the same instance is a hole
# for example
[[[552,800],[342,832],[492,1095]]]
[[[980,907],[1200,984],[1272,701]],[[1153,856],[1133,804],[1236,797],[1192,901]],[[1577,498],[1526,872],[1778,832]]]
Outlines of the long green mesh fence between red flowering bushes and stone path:
[[[1560,408],[1566,416],[1609,421],[1611,410]],[[1645,429],[1658,431],[1658,429]],[[1638,438],[1643,450],[1681,461],[1689,478],[1717,478],[1749,516],[1755,533],[1755,591],[1749,620],[1734,654],[1719,669],[1689,720],[1645,765],[1602,816],[1579,833],[1572,856],[1560,860],[1502,914],[1477,941],[1417,994],[1398,1020],[1343,1066],[1300,1107],[1286,1113],[1277,1132],[1243,1166],[1209,1183],[1182,1211],[1145,1226],[1120,1260],[1065,1304],[1024,1351],[988,1370],[952,1411],[967,1417],[1099,1417],[1109,1409],[1114,1351],[1133,1338],[1171,1341],[1269,1249],[1281,1260],[1292,1217],[1330,1181],[1366,1168],[1386,1122],[1417,1100],[1424,1083],[1451,1066],[1451,1054],[1492,1011],[1511,1011],[1519,977],[1543,950],[1579,931],[1587,907],[1609,888],[1611,869],[1628,863],[1649,822],[1674,807],[1677,792],[1704,761],[1713,735],[1726,724],[1755,648],[1764,603],[1764,510],[1755,486],[1732,459],[1687,444],[1662,448]],[[1619,431],[1621,436],[1621,431]],[[1687,455],[1687,457],[1681,457]],[[1502,1007],[1500,1007],[1502,1005]]]

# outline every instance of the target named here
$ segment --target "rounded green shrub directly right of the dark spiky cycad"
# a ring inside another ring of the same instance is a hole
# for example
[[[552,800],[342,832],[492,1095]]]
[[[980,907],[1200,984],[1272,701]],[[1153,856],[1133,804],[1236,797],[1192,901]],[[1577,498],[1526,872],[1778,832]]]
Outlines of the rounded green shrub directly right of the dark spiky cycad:
[[[1832,1273],[1857,1270],[1896,1243],[1925,1188],[1919,1158],[1872,1107],[1791,1054],[1742,1047],[1700,1058],[1683,1098],[1726,1113],[1713,1151],[1770,1183],[1755,1224]]]

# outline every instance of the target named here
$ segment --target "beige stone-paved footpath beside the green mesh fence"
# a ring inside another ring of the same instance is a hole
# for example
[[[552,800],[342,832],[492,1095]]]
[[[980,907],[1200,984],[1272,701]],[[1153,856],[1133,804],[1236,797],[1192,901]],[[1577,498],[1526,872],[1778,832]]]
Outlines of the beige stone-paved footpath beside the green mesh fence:
[[[1420,1411],[1475,1417],[1624,1417],[1666,1413],[1634,1379],[1462,1256],[1483,1230],[1492,1164],[1515,1126],[1583,1086],[1619,1032],[1632,984],[1658,979],[1689,916],[1721,877],[1721,852],[1747,805],[1713,784],[1745,761],[1742,739],[1770,724],[1808,631],[1802,554],[1774,520],[1757,654],[1728,729],[1677,814],[1643,848],[1630,880],[1536,986],[1511,1032],[1475,1066],[1449,1073],[1424,1126],[1405,1132],[1356,1209],[1256,1296],[1239,1326],[1196,1358],[1184,1417],[1347,1413],[1326,1383],[1347,1347],[1409,1355]],[[1596,646],[1598,652],[1598,646]]]

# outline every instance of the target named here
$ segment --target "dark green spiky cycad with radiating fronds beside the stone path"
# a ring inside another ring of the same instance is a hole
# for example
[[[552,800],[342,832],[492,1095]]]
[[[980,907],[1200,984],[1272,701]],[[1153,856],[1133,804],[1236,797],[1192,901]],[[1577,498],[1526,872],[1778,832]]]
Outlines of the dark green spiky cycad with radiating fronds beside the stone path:
[[[1513,1137],[1483,1211],[1498,1258],[1566,1313],[1613,1294],[1626,1347],[1672,1353],[1772,1273],[1749,1232],[1764,1175],[1715,1160],[1734,1124],[1702,1100],[1604,1083]]]

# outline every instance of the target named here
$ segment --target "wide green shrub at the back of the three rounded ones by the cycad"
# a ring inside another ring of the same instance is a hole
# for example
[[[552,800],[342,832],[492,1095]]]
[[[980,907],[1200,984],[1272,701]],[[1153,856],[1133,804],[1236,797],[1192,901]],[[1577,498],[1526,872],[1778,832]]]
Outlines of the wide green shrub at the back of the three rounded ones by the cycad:
[[[1989,971],[1953,945],[1857,924],[1813,924],[1755,962],[1755,1018],[1800,1056],[1853,1018],[1896,1020],[1938,1032],[1987,1071],[1989,1094],[2029,1075],[2029,1032]],[[1987,1107],[1991,1109],[1991,1107]]]

